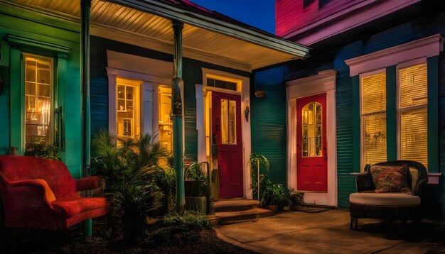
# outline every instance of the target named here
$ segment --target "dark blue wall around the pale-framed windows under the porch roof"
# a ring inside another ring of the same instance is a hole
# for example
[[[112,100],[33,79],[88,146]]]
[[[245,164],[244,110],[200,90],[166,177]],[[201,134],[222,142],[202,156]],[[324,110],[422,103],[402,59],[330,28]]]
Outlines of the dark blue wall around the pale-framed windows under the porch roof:
[[[90,57],[90,94],[91,94],[91,121],[92,136],[101,127],[108,126],[108,78],[107,78],[107,50],[120,53],[139,55],[173,62],[173,55],[160,53],[146,48],[136,47],[115,40],[109,40],[96,36],[91,37]],[[184,129],[186,133],[184,151],[186,158],[198,157],[198,133],[196,132],[196,99],[195,84],[203,84],[203,73],[201,68],[220,70],[250,77],[250,73],[233,70],[208,62],[200,62],[189,58],[183,58],[183,81],[184,81]],[[173,73],[173,70],[172,70]],[[168,84],[167,84],[168,85]]]

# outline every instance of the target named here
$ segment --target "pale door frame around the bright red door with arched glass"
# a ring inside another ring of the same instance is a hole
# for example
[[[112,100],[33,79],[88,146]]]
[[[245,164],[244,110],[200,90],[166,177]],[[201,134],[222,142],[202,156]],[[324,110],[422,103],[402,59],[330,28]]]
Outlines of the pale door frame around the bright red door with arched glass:
[[[296,99],[326,93],[326,121],[336,125],[336,70],[325,70],[318,74],[286,82],[287,100],[287,186],[296,186]],[[336,128],[326,128],[328,148],[328,192],[306,192],[308,202],[337,206],[337,141]]]

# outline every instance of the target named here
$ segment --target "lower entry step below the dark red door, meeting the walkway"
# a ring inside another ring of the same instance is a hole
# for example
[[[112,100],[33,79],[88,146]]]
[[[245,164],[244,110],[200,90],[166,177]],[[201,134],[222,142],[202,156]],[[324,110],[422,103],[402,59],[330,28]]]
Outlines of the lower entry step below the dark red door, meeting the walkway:
[[[239,223],[273,215],[274,213],[272,211],[262,208],[252,208],[243,211],[220,211],[215,213],[215,216],[218,218],[218,223],[221,225]]]

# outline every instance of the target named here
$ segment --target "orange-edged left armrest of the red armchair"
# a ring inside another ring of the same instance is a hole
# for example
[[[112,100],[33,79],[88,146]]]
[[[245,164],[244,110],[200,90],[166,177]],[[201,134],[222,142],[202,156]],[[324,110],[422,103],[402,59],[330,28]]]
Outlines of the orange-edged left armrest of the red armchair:
[[[18,180],[14,182],[8,182],[7,185],[10,188],[6,188],[6,192],[9,192],[9,194],[18,197],[17,199],[14,199],[15,202],[26,204],[26,199],[23,199],[22,195],[26,195],[26,197],[29,197],[29,193],[36,193],[36,197],[30,198],[38,199],[38,197],[41,197],[44,204],[53,209],[51,203],[55,200],[55,196],[45,180]],[[33,205],[35,205],[36,203],[38,202],[33,202]]]

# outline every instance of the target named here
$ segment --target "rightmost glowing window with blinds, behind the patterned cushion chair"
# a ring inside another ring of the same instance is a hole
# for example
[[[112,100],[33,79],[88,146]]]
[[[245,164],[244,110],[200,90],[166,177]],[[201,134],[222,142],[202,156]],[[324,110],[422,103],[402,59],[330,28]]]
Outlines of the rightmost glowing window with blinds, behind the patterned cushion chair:
[[[428,167],[427,63],[399,69],[400,159]]]

